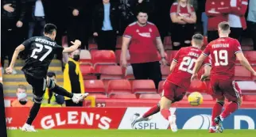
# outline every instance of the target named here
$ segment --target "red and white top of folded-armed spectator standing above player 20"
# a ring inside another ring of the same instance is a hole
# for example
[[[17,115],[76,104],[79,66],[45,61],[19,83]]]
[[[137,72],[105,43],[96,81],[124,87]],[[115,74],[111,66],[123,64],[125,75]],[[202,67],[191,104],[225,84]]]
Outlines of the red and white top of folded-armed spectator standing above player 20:
[[[196,14],[193,6],[179,6],[178,2],[174,2],[171,6],[170,14],[177,14],[181,17],[190,17],[192,14]]]

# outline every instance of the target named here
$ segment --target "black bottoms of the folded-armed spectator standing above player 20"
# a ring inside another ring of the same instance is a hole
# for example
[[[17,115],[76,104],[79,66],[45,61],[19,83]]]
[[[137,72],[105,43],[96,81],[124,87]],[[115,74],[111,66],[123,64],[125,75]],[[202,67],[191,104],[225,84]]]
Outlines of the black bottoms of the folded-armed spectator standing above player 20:
[[[185,40],[192,40],[195,32],[194,24],[179,25],[173,23],[172,25],[172,41],[184,44]]]

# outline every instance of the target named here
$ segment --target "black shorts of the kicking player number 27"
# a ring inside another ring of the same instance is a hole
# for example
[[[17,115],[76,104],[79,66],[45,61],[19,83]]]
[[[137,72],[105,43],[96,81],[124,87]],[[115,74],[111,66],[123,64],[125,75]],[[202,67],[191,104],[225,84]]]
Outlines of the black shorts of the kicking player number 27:
[[[34,78],[29,74],[25,74],[25,79],[29,85],[33,88],[33,94],[36,97],[43,97],[46,89],[46,77],[45,78]]]

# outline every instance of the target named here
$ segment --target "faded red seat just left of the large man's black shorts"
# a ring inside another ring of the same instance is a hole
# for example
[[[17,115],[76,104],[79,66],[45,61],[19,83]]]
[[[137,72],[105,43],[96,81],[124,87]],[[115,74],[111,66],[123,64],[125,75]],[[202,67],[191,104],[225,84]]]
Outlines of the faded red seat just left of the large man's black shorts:
[[[100,79],[122,79],[122,67],[103,66],[99,70]]]

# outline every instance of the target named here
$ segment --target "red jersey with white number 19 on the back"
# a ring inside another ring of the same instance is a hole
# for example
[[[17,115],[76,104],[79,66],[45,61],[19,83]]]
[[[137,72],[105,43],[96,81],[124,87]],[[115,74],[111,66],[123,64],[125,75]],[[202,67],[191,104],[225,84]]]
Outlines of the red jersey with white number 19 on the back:
[[[236,53],[242,52],[238,40],[223,37],[211,41],[204,49],[204,55],[211,55],[211,78],[230,79],[235,75]]]

